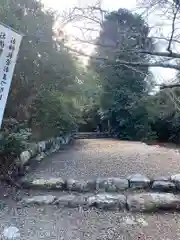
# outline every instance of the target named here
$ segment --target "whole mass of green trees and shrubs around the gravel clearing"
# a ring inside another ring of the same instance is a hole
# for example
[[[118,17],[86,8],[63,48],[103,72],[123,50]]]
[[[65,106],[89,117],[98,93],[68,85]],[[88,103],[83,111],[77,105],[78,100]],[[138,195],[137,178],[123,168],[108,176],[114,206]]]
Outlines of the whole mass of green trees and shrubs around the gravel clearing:
[[[100,122],[105,130],[110,124],[121,139],[180,141],[180,114],[168,92],[149,95],[148,67],[117,62],[149,60],[137,53],[154,48],[141,16],[126,9],[107,15],[94,54],[107,60],[91,59],[83,67],[58,40],[53,31],[57,15],[41,1],[2,0],[0,9],[1,22],[25,34],[5,116],[28,123],[2,130],[1,153],[17,155],[29,138],[45,139],[77,127],[93,131]],[[180,96],[178,90],[175,94]]]

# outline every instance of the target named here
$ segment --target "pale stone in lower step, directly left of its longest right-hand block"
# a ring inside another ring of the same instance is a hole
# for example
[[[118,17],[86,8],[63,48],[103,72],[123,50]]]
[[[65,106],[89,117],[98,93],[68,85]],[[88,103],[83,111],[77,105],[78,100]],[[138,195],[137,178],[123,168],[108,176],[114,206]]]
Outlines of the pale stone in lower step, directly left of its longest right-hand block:
[[[97,194],[88,198],[88,205],[100,209],[124,209],[126,207],[126,197],[120,194]]]

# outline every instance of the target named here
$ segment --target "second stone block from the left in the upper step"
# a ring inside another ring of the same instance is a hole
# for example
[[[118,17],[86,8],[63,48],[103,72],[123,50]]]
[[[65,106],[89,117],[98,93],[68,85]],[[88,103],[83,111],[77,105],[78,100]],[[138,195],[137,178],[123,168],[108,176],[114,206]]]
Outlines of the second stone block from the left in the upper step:
[[[91,192],[91,191],[96,190],[96,182],[95,182],[95,180],[68,179],[66,181],[66,188],[69,191]]]

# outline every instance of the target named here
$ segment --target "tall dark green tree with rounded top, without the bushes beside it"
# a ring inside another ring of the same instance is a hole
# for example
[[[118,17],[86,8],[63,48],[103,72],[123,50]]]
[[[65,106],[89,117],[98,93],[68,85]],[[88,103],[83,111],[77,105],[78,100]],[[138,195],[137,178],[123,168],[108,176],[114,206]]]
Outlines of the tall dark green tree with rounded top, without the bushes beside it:
[[[106,56],[107,60],[90,63],[101,80],[101,110],[110,121],[112,133],[121,139],[142,139],[149,129],[146,124],[148,111],[141,104],[149,90],[148,68],[134,70],[117,62],[117,59],[128,62],[147,60],[144,55],[137,54],[137,50],[152,48],[148,34],[149,28],[139,15],[125,9],[112,12],[103,23],[96,49],[96,56]],[[102,47],[102,44],[111,45],[114,51]]]

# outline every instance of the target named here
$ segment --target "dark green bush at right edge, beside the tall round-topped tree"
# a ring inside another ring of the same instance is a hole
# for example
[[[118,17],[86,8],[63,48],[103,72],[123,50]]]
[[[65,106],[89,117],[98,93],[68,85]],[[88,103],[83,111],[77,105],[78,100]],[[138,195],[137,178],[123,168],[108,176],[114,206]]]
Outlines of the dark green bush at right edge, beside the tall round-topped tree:
[[[178,102],[170,97],[170,91],[177,99],[180,97],[180,90],[176,88],[163,90],[147,99],[149,123],[158,141],[180,143],[180,111]]]

